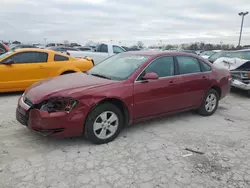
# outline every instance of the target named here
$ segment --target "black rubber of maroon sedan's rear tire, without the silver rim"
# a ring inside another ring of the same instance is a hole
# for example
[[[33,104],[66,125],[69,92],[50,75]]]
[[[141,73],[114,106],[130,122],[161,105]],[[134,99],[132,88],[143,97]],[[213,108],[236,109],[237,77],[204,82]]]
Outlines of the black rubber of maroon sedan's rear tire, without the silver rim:
[[[212,112],[208,112],[206,110],[206,99],[207,97],[210,95],[210,94],[214,94],[216,96],[216,106],[214,108],[214,110]],[[210,89],[204,96],[204,99],[203,99],[203,102],[199,108],[199,113],[203,116],[211,116],[215,113],[215,111],[217,110],[218,108],[218,104],[219,104],[219,94],[216,90],[214,89]]]

